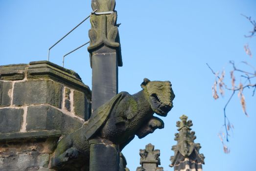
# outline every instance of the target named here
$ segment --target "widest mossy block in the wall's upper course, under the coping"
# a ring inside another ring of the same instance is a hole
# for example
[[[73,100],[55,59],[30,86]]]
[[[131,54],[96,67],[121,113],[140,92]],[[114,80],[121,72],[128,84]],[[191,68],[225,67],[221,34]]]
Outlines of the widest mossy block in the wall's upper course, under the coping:
[[[13,104],[16,106],[49,104],[61,107],[62,85],[52,80],[29,80],[14,84]]]

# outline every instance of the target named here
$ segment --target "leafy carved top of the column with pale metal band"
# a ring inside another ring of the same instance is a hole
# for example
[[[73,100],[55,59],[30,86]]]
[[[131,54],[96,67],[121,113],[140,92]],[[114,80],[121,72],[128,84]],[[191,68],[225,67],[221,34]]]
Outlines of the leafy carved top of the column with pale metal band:
[[[92,0],[92,8],[96,12],[90,17],[91,29],[89,30],[90,45],[88,51],[90,52],[91,67],[93,53],[104,46],[116,49],[117,64],[122,66],[115,6],[116,0]]]

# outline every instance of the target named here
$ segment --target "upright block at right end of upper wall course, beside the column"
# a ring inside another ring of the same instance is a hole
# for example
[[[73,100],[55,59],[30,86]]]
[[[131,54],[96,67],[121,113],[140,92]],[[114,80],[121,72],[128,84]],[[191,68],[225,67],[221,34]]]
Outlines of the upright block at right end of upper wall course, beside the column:
[[[84,92],[74,90],[73,107],[75,115],[83,118],[85,121],[89,119],[88,103]]]

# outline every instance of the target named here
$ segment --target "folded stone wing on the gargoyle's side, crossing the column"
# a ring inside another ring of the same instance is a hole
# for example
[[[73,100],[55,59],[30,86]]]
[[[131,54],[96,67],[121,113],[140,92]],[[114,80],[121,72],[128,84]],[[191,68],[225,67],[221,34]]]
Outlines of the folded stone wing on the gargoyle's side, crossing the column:
[[[85,137],[88,140],[94,133],[106,123],[112,109],[118,105],[121,99],[125,96],[125,93],[121,92],[116,94],[111,100],[106,102],[104,105],[98,107],[93,111],[91,118],[88,123],[84,126]]]

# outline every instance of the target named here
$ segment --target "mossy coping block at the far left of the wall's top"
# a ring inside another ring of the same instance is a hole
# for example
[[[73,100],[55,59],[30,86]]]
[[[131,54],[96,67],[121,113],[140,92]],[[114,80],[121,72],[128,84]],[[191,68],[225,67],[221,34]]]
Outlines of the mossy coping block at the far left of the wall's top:
[[[0,66],[0,80],[23,80],[27,64],[10,64]]]

